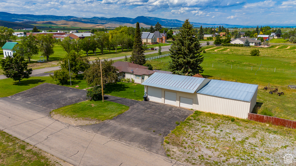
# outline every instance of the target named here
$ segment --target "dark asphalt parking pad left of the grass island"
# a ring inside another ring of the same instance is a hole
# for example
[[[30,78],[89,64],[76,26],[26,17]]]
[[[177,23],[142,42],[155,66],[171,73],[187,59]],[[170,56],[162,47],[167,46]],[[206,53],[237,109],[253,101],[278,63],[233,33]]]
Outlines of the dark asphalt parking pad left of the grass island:
[[[43,83],[15,95],[2,97],[0,100],[49,115],[54,109],[85,101],[86,90]]]

